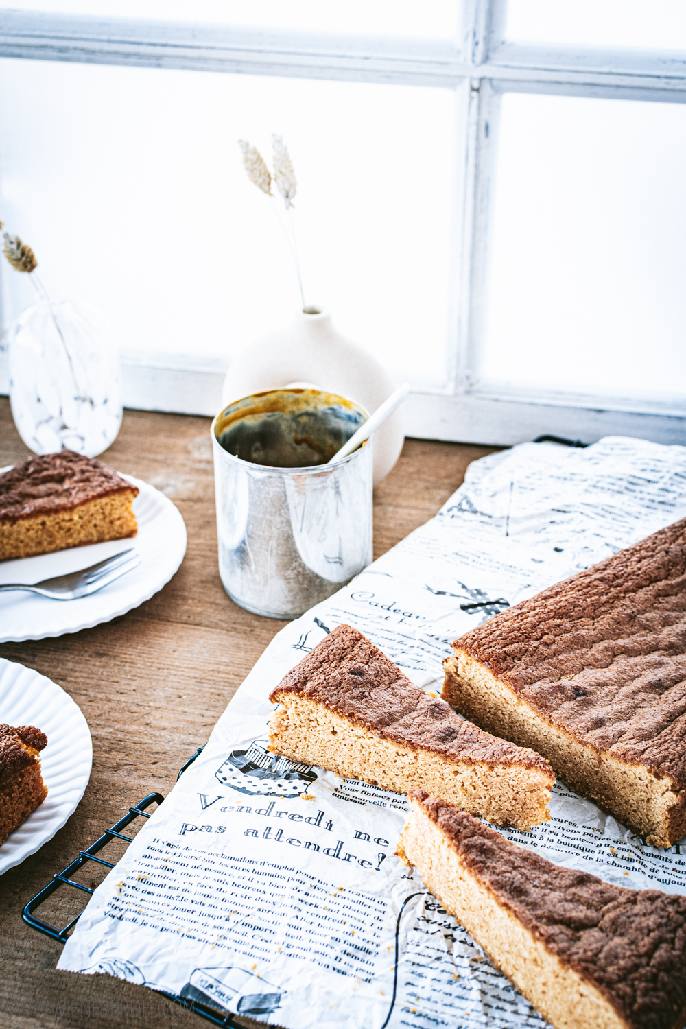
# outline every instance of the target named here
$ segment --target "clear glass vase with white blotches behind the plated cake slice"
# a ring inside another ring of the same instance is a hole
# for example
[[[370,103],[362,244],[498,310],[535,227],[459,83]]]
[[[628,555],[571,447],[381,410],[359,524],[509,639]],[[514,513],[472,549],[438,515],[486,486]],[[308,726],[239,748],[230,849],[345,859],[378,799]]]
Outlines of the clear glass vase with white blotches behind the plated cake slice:
[[[8,336],[12,417],[27,447],[102,454],[121,424],[119,354],[103,316],[45,297]]]

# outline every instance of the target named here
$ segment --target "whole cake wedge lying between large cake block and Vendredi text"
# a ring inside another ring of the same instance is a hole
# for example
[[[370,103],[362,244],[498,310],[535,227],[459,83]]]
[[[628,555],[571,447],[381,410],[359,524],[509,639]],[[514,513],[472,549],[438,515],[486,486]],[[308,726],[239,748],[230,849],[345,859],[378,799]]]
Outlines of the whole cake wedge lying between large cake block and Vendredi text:
[[[483,733],[351,626],[338,626],[274,689],[269,750],[406,793],[431,789],[496,825],[547,821],[546,760]]]

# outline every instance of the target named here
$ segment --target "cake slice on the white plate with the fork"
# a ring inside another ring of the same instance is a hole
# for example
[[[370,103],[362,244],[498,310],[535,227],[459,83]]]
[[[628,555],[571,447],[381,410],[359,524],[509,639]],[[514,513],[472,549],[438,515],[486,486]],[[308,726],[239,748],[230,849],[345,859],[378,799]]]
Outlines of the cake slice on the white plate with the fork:
[[[22,461],[0,475],[0,561],[135,536],[137,494],[73,451]]]

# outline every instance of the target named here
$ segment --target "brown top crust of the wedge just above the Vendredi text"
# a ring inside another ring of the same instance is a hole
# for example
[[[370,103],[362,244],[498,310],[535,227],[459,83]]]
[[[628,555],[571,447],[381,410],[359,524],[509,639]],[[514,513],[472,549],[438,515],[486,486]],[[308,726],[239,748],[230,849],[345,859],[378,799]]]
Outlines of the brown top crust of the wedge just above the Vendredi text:
[[[323,704],[389,740],[434,750],[462,761],[550,766],[533,750],[484,733],[440,698],[416,686],[386,654],[352,626],[341,625],[272,691],[296,693]]]

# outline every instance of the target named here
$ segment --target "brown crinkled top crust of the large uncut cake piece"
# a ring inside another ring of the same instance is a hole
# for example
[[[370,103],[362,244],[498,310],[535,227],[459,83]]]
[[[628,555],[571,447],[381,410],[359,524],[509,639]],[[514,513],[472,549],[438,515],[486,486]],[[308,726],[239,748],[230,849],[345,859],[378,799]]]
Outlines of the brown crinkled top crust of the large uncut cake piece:
[[[686,519],[453,646],[585,744],[686,787]]]

